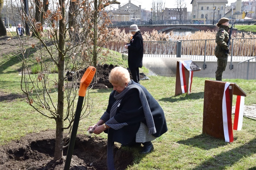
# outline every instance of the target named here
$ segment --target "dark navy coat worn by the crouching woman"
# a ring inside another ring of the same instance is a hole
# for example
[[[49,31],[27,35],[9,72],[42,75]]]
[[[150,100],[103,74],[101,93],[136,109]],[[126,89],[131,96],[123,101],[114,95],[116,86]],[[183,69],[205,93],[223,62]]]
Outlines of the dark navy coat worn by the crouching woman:
[[[132,81],[132,84],[137,83]],[[140,84],[137,85],[143,89],[154,119],[157,132],[153,134],[153,136],[159,137],[168,130],[163,110],[145,87]],[[109,97],[109,104],[108,108],[106,109],[106,112],[108,113],[110,113],[110,109],[116,101],[116,99],[114,98],[114,94],[115,90],[111,92]],[[110,128],[109,133],[113,133],[113,135],[111,135],[113,136],[112,141],[116,141],[122,144],[131,142],[136,137],[136,133],[138,132],[140,127],[140,122],[146,124],[138,89],[131,89],[125,94],[120,105],[117,108],[117,112],[114,118],[118,123],[125,122],[128,125],[118,130]]]

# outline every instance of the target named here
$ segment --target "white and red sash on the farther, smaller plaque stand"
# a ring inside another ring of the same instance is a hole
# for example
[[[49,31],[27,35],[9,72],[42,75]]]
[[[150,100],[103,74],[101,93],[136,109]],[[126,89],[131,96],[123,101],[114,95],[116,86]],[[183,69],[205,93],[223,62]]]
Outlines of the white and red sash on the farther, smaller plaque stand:
[[[187,91],[184,62],[180,60],[179,64],[180,64],[179,68],[180,68],[181,90],[182,90],[182,93],[187,92],[189,95],[191,91],[191,84],[193,79],[193,71],[189,71],[188,91]]]

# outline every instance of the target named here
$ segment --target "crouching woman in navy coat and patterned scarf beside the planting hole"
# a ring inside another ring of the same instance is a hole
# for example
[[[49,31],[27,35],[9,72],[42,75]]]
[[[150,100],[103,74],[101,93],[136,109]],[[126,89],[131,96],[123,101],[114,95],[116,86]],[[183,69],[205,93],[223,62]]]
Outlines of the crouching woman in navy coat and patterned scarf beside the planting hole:
[[[109,81],[113,91],[109,104],[100,120],[89,126],[89,133],[108,133],[107,167],[114,167],[114,142],[122,146],[141,146],[141,154],[154,150],[152,140],[167,132],[164,112],[158,102],[142,85],[130,80],[129,71],[123,67],[111,70]]]

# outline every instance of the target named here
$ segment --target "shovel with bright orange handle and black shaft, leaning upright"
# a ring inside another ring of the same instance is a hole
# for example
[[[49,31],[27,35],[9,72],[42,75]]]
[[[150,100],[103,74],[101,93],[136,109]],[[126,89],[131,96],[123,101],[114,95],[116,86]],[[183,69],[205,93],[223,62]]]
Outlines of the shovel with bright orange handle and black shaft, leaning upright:
[[[86,94],[86,89],[90,85],[91,81],[93,80],[95,72],[96,72],[95,67],[93,67],[93,66],[88,67],[80,81],[80,88],[79,88],[79,93],[78,93],[79,97],[78,97],[78,101],[77,101],[77,105],[76,105],[73,128],[72,128],[72,132],[71,132],[71,136],[70,136],[69,147],[68,147],[64,170],[69,170],[69,168],[70,168],[71,158],[72,158],[74,145],[75,145],[76,133],[77,133],[80,115],[81,115],[81,111],[82,111],[82,107],[83,107],[84,97]]]

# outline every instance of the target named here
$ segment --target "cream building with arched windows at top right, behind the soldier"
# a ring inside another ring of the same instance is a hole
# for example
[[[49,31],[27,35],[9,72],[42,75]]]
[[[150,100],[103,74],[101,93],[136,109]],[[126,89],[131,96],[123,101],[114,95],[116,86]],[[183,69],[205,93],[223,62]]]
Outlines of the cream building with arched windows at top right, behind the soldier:
[[[225,15],[228,0],[192,0],[191,19],[220,19]]]

